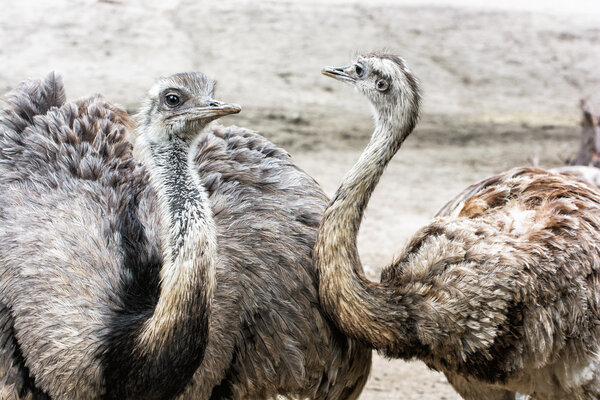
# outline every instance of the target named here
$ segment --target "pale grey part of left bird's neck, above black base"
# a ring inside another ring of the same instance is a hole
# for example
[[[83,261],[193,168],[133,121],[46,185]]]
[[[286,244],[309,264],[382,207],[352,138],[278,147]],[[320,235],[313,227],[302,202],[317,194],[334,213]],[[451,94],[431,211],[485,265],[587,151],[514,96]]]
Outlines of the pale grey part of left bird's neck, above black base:
[[[191,145],[190,139],[175,135],[142,141],[158,200],[163,266],[160,296],[139,336],[139,347],[196,357],[203,354],[208,337],[216,228],[208,194],[190,167]]]

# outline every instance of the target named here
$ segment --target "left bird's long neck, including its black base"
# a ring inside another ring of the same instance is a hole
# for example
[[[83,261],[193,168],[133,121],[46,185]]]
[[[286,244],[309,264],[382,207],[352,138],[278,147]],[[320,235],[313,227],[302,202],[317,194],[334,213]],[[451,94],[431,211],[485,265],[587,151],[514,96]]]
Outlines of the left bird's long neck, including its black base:
[[[158,203],[160,293],[152,312],[126,333],[131,357],[119,368],[129,378],[109,389],[109,398],[170,398],[184,388],[204,357],[215,288],[216,228],[207,192],[190,168],[190,143],[140,145]]]

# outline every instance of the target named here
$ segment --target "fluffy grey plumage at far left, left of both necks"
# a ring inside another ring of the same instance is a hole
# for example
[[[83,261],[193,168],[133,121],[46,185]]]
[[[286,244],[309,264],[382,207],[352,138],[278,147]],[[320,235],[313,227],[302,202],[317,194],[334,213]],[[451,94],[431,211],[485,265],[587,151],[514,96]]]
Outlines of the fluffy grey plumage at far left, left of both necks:
[[[0,293],[13,339],[2,356],[16,392],[103,392],[100,343],[122,307],[122,242],[146,179],[129,126],[100,96],[64,103],[52,75],[20,86],[2,113]]]

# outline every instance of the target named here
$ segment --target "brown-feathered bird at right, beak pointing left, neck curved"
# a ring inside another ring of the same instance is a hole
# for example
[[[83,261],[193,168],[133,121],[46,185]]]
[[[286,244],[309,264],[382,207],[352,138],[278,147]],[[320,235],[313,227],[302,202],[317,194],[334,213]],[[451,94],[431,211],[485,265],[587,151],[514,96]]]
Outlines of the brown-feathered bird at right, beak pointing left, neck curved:
[[[358,88],[376,128],[325,211],[314,249],[323,307],[347,335],[443,371],[467,399],[600,396],[600,193],[539,169],[467,189],[384,269],[356,247],[379,177],[417,121],[420,94],[400,58],[323,71]]]

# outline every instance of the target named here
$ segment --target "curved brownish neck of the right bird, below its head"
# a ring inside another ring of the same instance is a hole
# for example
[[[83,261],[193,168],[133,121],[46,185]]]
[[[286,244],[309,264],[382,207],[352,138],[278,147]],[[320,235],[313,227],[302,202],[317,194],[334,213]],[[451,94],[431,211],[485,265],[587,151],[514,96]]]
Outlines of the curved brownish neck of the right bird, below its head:
[[[398,310],[387,301],[391,289],[365,277],[356,238],[379,178],[415,122],[416,116],[397,125],[381,115],[376,118],[371,141],[323,215],[313,253],[328,314],[344,333],[376,348],[396,342]]]

